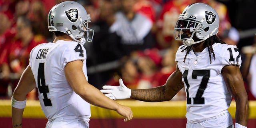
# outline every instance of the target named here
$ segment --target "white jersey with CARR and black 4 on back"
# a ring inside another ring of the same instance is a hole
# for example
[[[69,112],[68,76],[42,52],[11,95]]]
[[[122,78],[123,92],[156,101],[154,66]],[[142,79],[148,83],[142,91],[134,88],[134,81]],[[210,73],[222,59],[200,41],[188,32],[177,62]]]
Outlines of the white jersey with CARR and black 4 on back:
[[[65,118],[88,124],[90,120],[90,104],[74,92],[65,77],[66,64],[74,60],[83,61],[87,79],[86,50],[78,42],[58,40],[40,44],[30,52],[29,66],[38,88],[40,105],[49,121]]]

